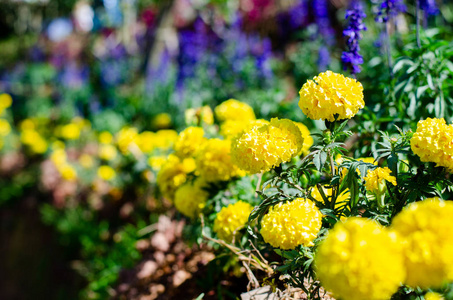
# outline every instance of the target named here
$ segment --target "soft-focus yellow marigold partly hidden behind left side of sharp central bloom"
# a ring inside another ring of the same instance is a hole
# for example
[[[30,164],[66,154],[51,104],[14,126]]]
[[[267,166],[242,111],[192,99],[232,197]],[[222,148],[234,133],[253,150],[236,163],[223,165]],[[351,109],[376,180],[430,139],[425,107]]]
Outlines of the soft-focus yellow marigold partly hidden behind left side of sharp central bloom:
[[[226,181],[245,173],[233,164],[231,142],[209,139],[196,153],[197,172],[207,182]]]

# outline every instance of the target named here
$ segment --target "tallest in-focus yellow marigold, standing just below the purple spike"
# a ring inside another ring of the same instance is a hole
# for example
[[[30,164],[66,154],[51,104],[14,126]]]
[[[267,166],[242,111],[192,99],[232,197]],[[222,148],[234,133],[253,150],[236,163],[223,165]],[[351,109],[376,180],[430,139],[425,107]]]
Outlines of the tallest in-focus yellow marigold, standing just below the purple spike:
[[[362,84],[332,71],[308,80],[299,95],[300,109],[312,120],[350,119],[365,106]]]

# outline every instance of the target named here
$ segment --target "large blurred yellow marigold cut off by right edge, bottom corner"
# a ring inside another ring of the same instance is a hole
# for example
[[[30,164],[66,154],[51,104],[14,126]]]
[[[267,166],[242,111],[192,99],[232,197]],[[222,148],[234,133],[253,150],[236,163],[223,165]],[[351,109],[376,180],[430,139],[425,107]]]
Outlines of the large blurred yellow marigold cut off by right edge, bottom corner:
[[[453,202],[428,199],[406,206],[391,227],[405,239],[406,284],[440,287],[453,280]]]

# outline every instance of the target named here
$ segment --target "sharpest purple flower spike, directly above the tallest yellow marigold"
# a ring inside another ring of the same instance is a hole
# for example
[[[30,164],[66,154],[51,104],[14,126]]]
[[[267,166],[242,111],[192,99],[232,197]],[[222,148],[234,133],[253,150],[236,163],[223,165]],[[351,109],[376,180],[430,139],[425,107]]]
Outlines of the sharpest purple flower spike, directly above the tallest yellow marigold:
[[[344,69],[350,69],[352,74],[360,73],[359,65],[363,64],[363,58],[359,54],[359,40],[362,38],[361,31],[367,30],[363,24],[366,14],[363,7],[358,1],[352,2],[350,9],[346,11],[345,19],[348,20],[348,26],[343,30],[343,35],[347,37],[347,51],[341,55]]]

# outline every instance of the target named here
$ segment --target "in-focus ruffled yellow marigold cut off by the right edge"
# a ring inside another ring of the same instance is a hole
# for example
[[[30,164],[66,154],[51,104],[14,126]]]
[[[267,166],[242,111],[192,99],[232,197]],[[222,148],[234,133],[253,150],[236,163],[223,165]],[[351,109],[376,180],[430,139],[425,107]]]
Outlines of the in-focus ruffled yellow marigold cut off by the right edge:
[[[422,162],[434,162],[453,172],[453,125],[447,125],[443,118],[419,121],[411,149]]]

